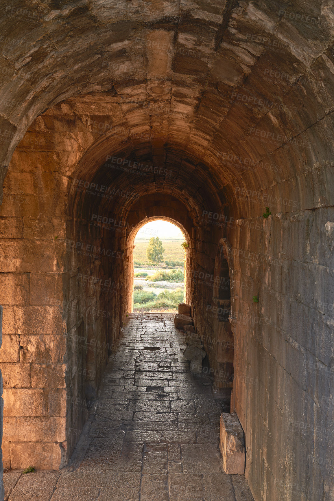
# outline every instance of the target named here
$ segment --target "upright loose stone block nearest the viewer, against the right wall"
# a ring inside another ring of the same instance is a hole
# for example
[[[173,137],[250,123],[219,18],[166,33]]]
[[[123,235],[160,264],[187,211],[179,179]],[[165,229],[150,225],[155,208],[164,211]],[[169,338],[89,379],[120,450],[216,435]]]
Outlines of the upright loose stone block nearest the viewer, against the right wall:
[[[235,412],[220,414],[219,448],[223,456],[223,468],[230,475],[245,472],[244,435]]]

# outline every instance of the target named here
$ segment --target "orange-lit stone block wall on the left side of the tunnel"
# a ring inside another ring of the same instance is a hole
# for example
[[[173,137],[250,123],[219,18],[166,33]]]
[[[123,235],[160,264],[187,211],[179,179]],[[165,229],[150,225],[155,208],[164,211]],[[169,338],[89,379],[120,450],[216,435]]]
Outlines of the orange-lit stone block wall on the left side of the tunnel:
[[[38,128],[45,128],[41,120]],[[120,332],[122,236],[94,234],[78,218],[67,226],[69,152],[74,165],[77,144],[49,130],[34,134],[37,145],[23,141],[13,156],[0,207],[3,453],[5,467],[58,469],[71,456]],[[86,245],[93,252],[82,252]],[[116,249],[119,258],[94,248]],[[129,307],[123,310],[124,317]]]

